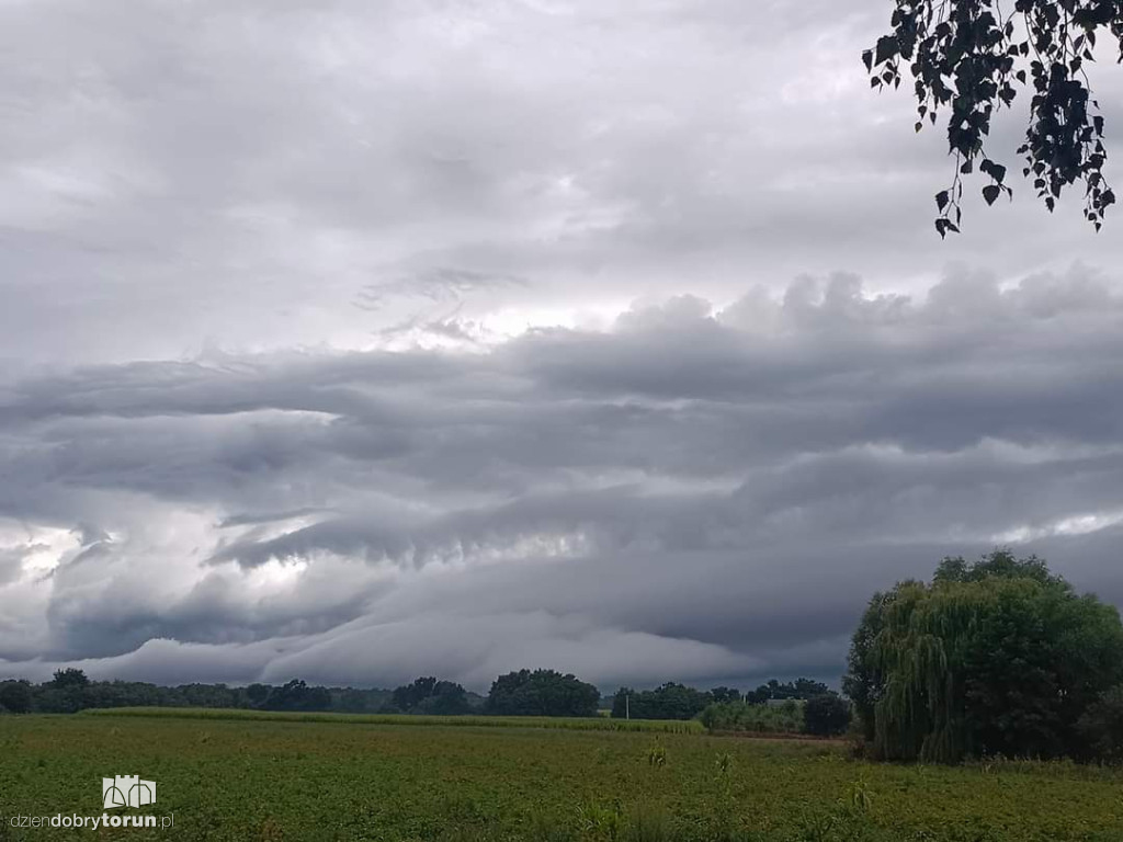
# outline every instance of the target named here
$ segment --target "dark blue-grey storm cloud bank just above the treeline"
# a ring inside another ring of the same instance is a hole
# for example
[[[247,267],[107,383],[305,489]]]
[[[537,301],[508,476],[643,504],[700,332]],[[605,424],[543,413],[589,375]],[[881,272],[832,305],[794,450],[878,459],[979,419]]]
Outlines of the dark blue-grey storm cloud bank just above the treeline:
[[[1079,267],[919,300],[837,275],[483,353],[10,379],[0,658],[831,677],[873,589],[1008,542],[1123,601],[1121,337],[1123,296]]]

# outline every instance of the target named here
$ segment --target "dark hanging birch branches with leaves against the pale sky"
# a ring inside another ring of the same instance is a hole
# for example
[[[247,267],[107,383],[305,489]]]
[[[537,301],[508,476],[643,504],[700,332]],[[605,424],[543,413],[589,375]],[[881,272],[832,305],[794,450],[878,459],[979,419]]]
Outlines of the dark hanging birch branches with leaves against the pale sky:
[[[1123,61],[1120,0],[895,0],[892,31],[862,54],[870,84],[897,88],[905,70],[914,80],[916,131],[947,113],[948,147],[956,171],[937,194],[941,237],[958,232],[961,176],[977,167],[989,179],[987,204],[1003,193],[1006,167],[987,154],[992,119],[1029,85],[1030,122],[1017,153],[1022,174],[1052,211],[1065,187],[1085,185],[1085,218],[1098,231],[1115,194],[1104,179],[1104,118],[1085,73],[1097,34],[1115,38]]]

